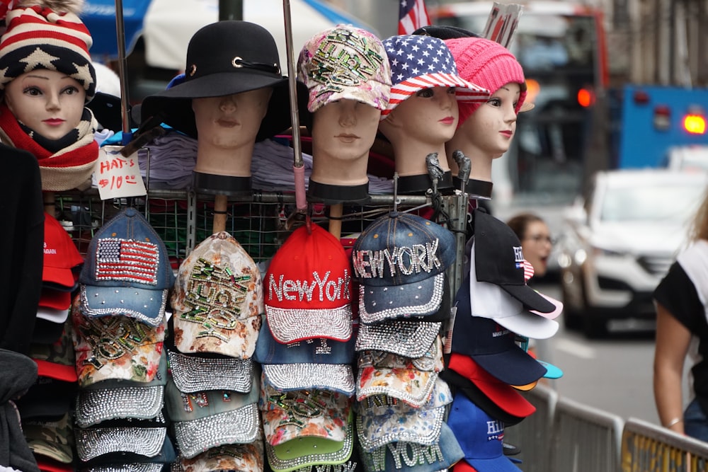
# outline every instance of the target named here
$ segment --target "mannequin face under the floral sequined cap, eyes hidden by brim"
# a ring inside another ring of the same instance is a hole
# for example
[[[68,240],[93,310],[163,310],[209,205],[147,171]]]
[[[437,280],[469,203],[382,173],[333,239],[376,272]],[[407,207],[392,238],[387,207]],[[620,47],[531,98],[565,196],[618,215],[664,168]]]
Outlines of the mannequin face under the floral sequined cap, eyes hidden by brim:
[[[369,155],[379,126],[381,110],[356,100],[336,100],[312,117],[314,156],[350,161]]]

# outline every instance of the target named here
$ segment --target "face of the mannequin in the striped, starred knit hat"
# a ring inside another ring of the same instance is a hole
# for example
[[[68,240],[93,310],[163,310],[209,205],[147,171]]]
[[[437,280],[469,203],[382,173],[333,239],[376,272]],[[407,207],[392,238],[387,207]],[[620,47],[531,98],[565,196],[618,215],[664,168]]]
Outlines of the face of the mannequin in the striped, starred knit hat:
[[[59,139],[79,125],[86,91],[63,72],[35,69],[5,87],[5,103],[25,126],[47,139]]]

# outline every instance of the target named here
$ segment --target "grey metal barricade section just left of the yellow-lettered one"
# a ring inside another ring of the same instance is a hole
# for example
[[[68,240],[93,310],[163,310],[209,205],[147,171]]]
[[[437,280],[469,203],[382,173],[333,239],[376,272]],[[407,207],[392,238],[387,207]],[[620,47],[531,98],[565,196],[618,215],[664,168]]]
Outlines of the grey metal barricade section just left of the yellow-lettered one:
[[[567,398],[556,403],[551,442],[554,472],[619,472],[624,420]]]

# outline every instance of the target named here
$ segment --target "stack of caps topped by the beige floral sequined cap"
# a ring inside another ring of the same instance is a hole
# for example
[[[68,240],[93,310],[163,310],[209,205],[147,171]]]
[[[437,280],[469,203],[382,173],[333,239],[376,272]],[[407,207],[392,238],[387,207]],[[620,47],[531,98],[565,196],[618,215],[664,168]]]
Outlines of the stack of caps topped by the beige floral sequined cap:
[[[258,266],[229,233],[212,234],[181,263],[171,304],[165,401],[177,470],[204,470],[215,457],[236,454],[247,467],[237,470],[263,471],[260,381],[251,360],[263,313]]]

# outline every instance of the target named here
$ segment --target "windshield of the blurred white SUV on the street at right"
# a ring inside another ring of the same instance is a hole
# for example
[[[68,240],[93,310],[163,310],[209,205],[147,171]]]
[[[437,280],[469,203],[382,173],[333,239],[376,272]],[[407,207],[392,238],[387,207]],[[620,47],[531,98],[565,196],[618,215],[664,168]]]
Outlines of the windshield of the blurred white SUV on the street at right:
[[[608,188],[601,221],[686,221],[702,200],[703,185]]]

